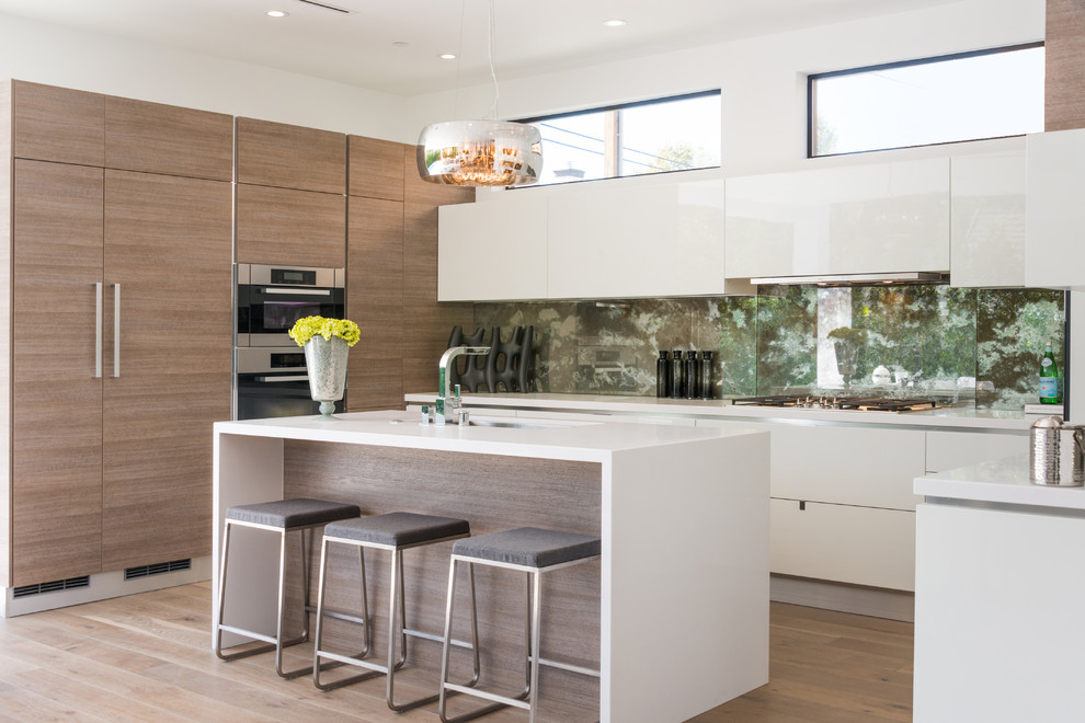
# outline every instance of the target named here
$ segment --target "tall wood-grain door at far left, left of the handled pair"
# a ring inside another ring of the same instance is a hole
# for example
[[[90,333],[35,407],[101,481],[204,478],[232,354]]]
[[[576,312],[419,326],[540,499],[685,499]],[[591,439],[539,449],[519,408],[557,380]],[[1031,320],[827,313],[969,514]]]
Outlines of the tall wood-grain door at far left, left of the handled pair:
[[[14,163],[12,574],[102,571],[102,170]]]

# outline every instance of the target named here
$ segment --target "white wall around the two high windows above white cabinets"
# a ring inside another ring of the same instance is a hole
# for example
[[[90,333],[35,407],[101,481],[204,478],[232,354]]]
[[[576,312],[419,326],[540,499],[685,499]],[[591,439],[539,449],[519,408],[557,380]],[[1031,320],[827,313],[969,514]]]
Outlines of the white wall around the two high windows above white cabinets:
[[[498,111],[506,118],[527,117],[721,88],[727,175],[785,171],[812,163],[884,160],[887,156],[881,153],[806,158],[807,73],[1029,43],[1043,37],[1044,0],[961,0],[882,18],[525,78],[502,77],[499,66]],[[482,115],[491,100],[489,85],[458,93],[419,95],[408,101],[407,125],[421,128],[436,120]],[[948,152],[945,147],[935,147],[892,153],[918,158]]]

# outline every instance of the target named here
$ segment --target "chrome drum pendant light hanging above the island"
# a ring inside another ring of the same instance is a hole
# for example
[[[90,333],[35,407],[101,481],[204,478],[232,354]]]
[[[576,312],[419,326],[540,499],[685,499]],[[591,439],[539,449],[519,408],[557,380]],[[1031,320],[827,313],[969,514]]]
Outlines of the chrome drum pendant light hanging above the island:
[[[496,115],[498,76],[493,69],[493,0],[487,28],[490,77]],[[535,183],[542,172],[542,138],[538,128],[496,119],[446,120],[422,129],[416,148],[423,181],[455,186],[519,186]]]

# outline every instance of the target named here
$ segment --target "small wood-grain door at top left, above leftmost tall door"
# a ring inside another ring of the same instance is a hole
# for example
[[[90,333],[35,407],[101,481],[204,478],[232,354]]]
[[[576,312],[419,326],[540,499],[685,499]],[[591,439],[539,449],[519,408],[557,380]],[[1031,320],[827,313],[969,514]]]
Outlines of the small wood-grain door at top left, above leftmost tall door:
[[[11,82],[14,154],[101,167],[105,159],[105,96]]]

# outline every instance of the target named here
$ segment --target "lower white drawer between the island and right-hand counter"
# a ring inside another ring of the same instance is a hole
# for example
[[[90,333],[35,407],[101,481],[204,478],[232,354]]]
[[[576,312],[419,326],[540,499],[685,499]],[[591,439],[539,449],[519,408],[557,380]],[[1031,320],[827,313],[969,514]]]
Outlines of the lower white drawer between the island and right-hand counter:
[[[915,589],[915,513],[772,500],[770,570]]]

